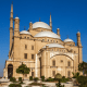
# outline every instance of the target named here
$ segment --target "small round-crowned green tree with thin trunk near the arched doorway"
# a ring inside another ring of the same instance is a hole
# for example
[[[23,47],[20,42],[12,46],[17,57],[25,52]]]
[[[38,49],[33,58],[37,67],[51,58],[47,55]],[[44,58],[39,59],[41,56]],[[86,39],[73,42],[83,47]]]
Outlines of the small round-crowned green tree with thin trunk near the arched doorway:
[[[18,74],[23,74],[23,79],[24,79],[24,75],[25,74],[29,74],[30,70],[29,67],[27,67],[25,64],[22,63],[22,65],[18,66],[18,69],[16,69],[16,73]]]

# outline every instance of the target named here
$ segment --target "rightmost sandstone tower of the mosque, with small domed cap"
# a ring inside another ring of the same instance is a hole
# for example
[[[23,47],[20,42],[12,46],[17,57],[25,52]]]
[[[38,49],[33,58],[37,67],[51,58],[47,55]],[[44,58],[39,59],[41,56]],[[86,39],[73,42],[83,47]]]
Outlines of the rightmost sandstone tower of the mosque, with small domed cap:
[[[78,63],[83,62],[83,55],[82,55],[82,42],[80,42],[80,33],[78,32],[77,34],[77,47],[78,47]]]

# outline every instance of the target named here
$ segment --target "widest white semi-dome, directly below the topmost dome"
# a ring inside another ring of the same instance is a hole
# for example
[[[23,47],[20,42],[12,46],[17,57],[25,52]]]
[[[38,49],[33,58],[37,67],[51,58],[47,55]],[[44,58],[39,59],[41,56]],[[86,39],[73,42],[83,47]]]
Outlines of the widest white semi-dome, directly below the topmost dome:
[[[40,32],[40,33],[36,34],[34,37],[51,37],[51,38],[60,39],[60,37],[52,32]]]

